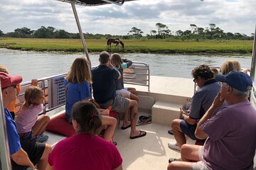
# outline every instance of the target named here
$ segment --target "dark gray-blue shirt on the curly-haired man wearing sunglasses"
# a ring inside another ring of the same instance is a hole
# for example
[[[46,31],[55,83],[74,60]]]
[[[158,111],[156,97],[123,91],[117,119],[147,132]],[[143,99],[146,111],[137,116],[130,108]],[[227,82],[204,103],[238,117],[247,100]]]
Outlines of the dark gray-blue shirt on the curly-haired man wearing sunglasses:
[[[210,108],[215,96],[220,92],[220,84],[215,79],[206,81],[203,86],[193,95],[189,118],[200,120]]]

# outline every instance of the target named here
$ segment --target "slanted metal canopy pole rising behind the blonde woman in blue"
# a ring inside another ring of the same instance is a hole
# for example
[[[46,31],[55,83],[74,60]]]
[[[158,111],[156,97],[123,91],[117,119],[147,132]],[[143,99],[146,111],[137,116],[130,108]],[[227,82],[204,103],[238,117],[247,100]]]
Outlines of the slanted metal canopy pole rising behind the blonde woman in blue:
[[[91,61],[90,61],[90,57],[89,57],[89,52],[88,52],[88,49],[87,49],[87,45],[86,45],[86,42],[85,42],[85,37],[82,33],[82,28],[80,26],[80,21],[79,21],[79,18],[78,18],[78,13],[76,11],[76,8],[75,8],[75,3],[72,2],[71,3],[71,6],[72,6],[72,9],[73,9],[73,13],[74,13],[74,16],[75,16],[75,21],[78,25],[78,30],[79,30],[79,34],[80,34],[80,39],[82,41],[82,46],[84,47],[84,51],[85,51],[85,56],[87,58],[87,60],[89,61],[90,63],[90,68],[92,68],[92,64],[91,64]]]

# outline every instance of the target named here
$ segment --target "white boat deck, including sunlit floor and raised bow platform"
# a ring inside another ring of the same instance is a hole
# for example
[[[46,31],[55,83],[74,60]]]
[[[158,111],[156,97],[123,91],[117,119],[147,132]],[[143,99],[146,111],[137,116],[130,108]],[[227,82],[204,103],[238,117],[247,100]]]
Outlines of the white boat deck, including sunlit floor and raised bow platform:
[[[173,77],[150,77],[151,88],[147,91],[146,86],[134,86],[142,93],[154,93],[163,95],[175,95],[191,97],[193,95],[193,81],[191,79]],[[126,86],[132,86],[125,84]],[[183,88],[182,88],[183,87]],[[140,115],[151,113],[139,112]],[[171,122],[171,120],[170,120]],[[122,125],[122,120],[120,126]],[[175,142],[174,136],[168,134],[169,125],[151,123],[137,126],[137,130],[145,130],[145,137],[134,140],[129,139],[130,128],[121,130],[117,128],[114,132],[114,141],[123,159],[123,169],[166,169],[170,157],[179,158],[180,152],[169,149],[167,143]],[[48,143],[55,145],[65,137],[46,132],[49,135]],[[193,142],[193,141],[190,141]]]

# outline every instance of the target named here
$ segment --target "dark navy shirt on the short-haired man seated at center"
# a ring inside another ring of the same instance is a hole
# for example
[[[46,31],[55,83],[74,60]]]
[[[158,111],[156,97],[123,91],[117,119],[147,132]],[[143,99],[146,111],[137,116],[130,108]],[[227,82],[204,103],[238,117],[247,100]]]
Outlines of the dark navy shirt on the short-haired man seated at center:
[[[99,65],[92,68],[93,97],[97,103],[107,103],[116,96],[117,69]]]

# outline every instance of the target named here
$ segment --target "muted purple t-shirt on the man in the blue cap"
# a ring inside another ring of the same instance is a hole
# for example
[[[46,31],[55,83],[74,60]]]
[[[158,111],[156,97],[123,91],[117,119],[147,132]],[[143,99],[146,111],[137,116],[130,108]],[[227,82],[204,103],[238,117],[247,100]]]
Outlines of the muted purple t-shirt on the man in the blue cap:
[[[256,111],[249,101],[223,108],[201,125],[208,169],[250,169],[256,149]]]

